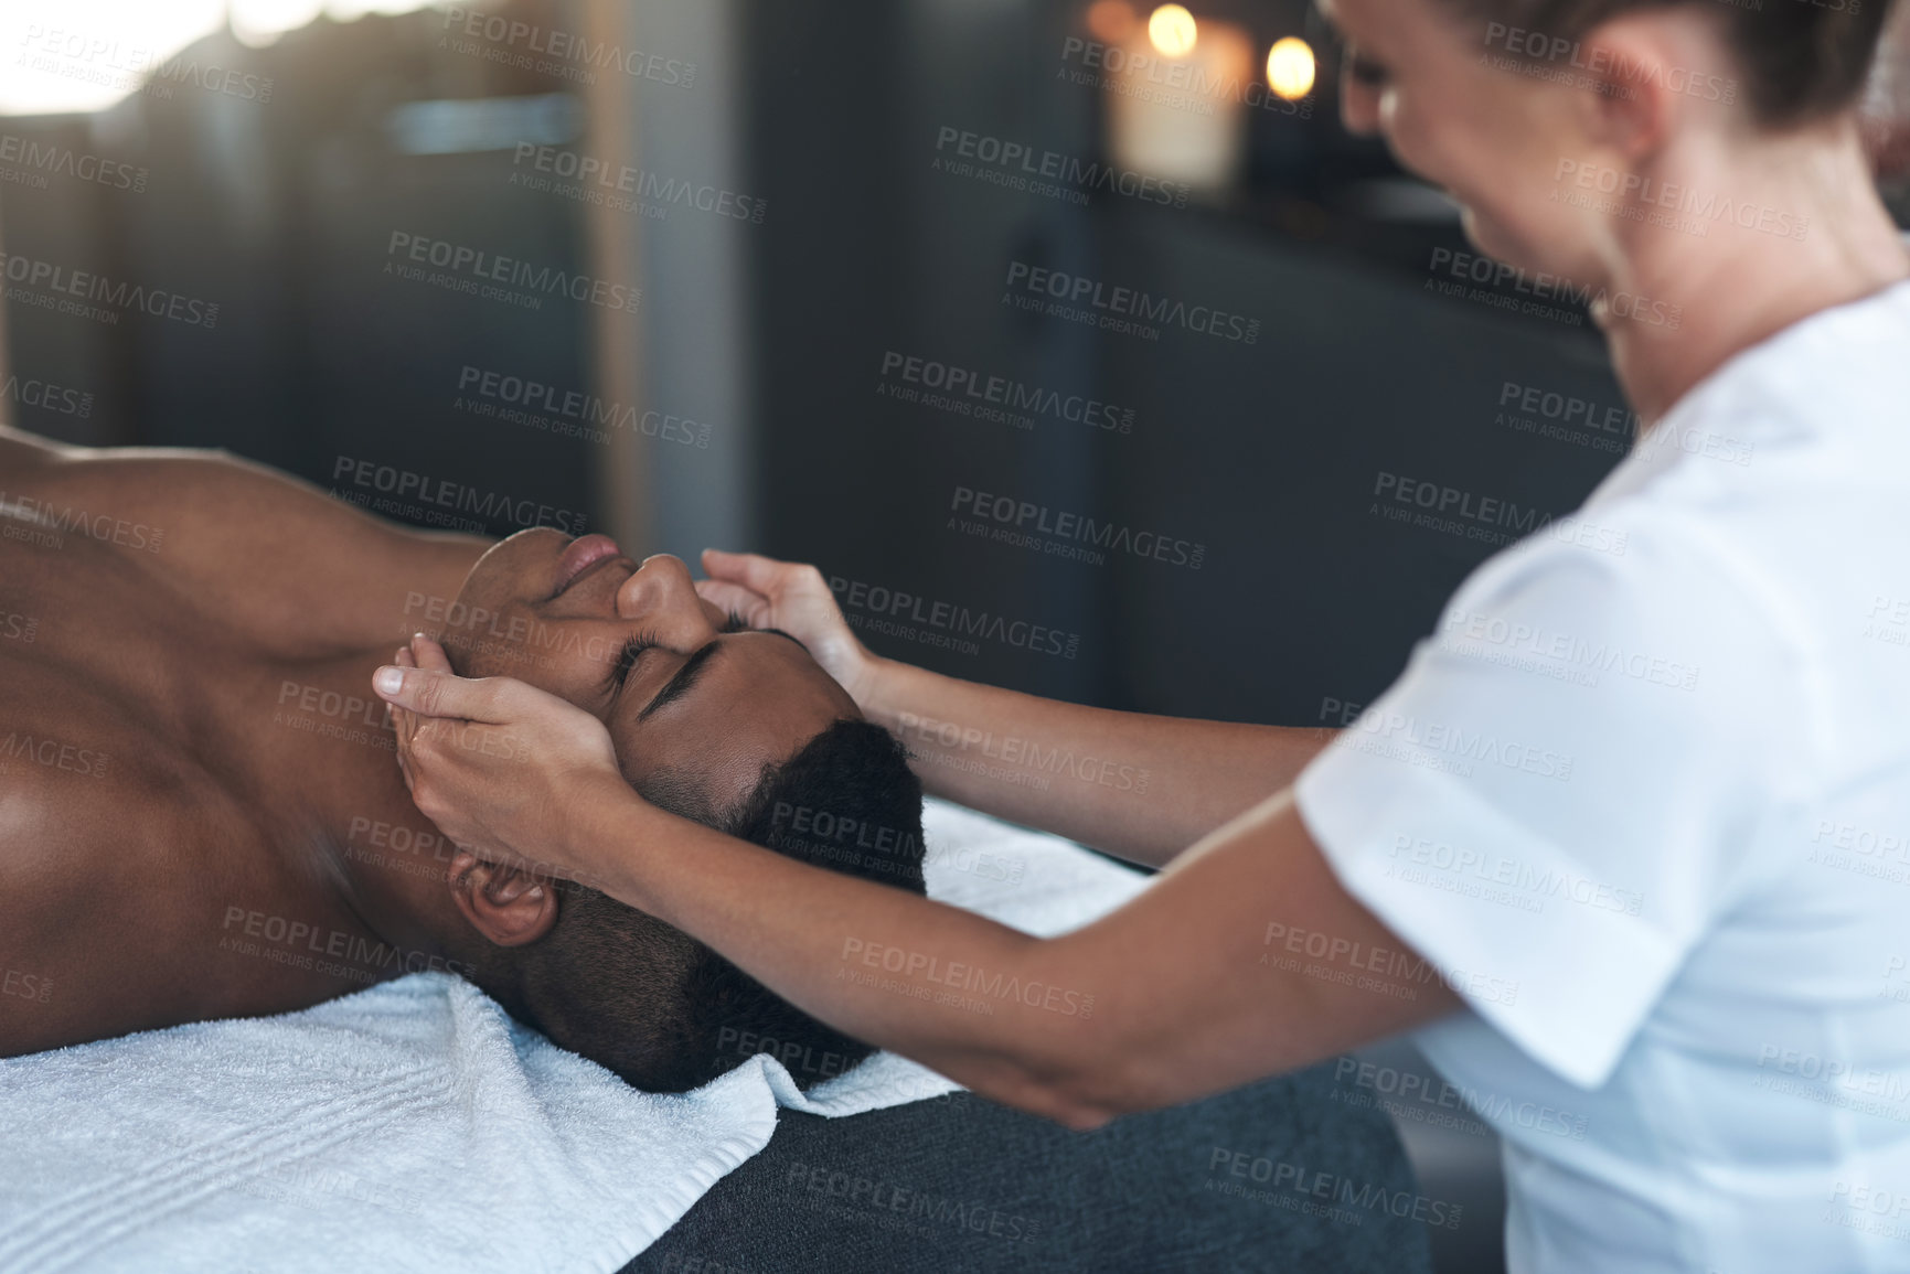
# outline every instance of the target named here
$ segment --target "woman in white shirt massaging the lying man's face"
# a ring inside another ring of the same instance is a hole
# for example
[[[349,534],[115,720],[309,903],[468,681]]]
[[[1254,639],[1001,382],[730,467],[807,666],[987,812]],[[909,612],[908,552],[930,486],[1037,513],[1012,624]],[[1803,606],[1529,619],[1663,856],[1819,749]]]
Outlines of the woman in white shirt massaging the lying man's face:
[[[1855,115],[1889,4],[1322,8],[1348,126],[1482,254],[1589,285],[1648,422],[1348,730],[938,676],[812,567],[712,552],[703,598],[796,636],[930,793],[1165,873],[1028,938],[649,808],[592,716],[424,640],[380,672],[413,795],[1077,1129],[1415,1030],[1503,1135],[1515,1272],[1910,1270],[1910,252]],[[638,676],[691,653],[665,625]],[[1115,768],[1005,777],[1029,747]],[[1043,991],[934,1001],[997,976]]]

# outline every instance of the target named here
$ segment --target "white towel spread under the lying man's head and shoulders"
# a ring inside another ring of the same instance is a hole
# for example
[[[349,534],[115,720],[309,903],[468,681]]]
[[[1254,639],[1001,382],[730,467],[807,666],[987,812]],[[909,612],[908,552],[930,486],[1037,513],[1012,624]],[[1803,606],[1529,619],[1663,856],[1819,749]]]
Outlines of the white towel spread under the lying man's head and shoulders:
[[[1144,877],[928,802],[928,890],[1026,932]],[[953,1083],[877,1054],[796,1091],[756,1056],[651,1094],[447,974],[277,1018],[0,1062],[0,1270],[617,1270],[775,1131]]]

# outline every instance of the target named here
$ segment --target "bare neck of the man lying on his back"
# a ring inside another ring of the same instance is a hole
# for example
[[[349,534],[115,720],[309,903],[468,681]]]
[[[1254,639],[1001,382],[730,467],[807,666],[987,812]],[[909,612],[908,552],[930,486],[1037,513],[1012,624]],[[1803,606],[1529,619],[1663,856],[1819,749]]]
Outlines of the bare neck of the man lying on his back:
[[[411,802],[395,735],[371,674],[390,649],[279,667],[248,697],[248,768],[279,852],[350,907],[380,940],[424,955],[462,955],[470,926],[447,888],[453,844]]]

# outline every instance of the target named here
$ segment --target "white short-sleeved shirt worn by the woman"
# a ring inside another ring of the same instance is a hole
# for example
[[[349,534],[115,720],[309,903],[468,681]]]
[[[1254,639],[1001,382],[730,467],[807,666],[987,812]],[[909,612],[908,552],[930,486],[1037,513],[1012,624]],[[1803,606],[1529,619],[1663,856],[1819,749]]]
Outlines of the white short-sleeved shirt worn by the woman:
[[[1694,388],[1301,775],[1515,1274],[1910,1270],[1910,283]]]

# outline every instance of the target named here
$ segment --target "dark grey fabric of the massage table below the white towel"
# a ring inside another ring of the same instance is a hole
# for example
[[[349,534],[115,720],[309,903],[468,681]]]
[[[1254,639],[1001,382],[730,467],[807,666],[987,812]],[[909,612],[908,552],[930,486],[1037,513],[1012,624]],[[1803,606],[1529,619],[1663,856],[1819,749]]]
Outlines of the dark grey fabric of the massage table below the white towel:
[[[959,1093],[781,1112],[756,1157],[623,1274],[1427,1274],[1392,1123],[1331,1066],[1068,1129]]]

